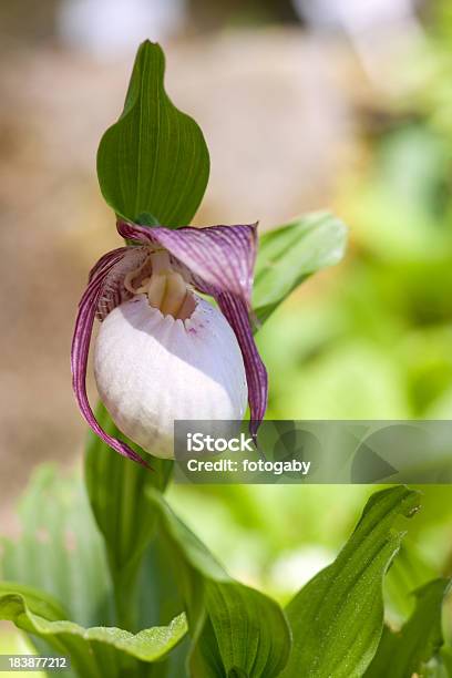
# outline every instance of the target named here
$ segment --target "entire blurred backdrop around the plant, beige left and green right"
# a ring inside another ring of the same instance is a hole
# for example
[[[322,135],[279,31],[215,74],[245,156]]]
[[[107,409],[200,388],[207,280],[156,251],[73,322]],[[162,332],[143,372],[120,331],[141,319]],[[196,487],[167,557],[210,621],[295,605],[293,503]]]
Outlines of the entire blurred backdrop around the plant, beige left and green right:
[[[90,264],[116,243],[94,153],[146,35],[163,42],[170,91],[206,131],[213,175],[197,223],[269,228],[328,207],[350,228],[343,263],[258,335],[268,417],[451,418],[451,4],[333,4],[52,0],[29,3],[27,19],[23,0],[1,7],[1,532],[17,531],[33,464],[80,462],[71,323]],[[425,578],[450,575],[452,489],[422,490],[407,551]],[[173,485],[168,496],[233,575],[285,600],[331,561],[371,491]]]

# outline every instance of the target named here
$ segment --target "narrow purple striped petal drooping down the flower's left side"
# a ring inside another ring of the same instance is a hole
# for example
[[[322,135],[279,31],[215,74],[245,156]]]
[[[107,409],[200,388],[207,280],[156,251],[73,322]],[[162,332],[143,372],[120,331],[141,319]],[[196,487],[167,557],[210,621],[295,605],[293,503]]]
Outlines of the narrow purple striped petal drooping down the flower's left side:
[[[82,412],[88,424],[99,435],[99,438],[101,438],[107,445],[113,448],[113,450],[123,456],[132,459],[133,461],[148,469],[150,465],[140,456],[140,454],[131,450],[131,448],[129,448],[129,445],[105,433],[105,431],[100,427],[91,409],[86,393],[88,356],[90,352],[94,318],[97,312],[100,301],[102,300],[102,296],[105,295],[105,284],[107,284],[109,280],[114,279],[117,271],[124,270],[126,260],[131,260],[131,250],[132,248],[121,247],[107,253],[97,261],[90,274],[88,288],[79,305],[79,314],[75,320],[74,336],[72,339],[72,386],[80,411]],[[127,269],[129,268],[130,264],[127,265]]]

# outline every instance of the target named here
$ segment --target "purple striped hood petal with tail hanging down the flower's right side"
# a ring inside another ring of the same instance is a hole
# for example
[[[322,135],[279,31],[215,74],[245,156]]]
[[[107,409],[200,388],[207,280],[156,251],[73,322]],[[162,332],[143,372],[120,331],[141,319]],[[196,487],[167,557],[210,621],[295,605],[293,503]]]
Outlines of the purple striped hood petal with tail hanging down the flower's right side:
[[[167,249],[189,271],[193,285],[217,300],[242,349],[254,434],[264,418],[268,396],[267,371],[249,322],[256,229],[256,224],[171,229],[117,223],[124,238]]]

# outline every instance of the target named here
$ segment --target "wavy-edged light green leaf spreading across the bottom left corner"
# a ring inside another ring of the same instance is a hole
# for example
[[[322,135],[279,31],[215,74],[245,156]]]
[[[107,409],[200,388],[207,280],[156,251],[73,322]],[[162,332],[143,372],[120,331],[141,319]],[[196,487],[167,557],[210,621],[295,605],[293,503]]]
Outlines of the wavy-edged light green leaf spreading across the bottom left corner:
[[[68,622],[49,596],[8,582],[0,583],[0,619],[13,622],[70,656],[81,678],[147,676],[142,662],[163,659],[187,630],[185,615],[166,627],[147,628],[136,635],[114,627],[83,628]]]

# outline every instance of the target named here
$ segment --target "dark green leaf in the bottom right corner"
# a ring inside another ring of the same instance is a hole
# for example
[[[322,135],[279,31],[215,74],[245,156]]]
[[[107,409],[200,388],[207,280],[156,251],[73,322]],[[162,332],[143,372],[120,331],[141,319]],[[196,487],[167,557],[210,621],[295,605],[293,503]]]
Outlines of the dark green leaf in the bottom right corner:
[[[384,627],[366,678],[424,675],[425,665],[436,657],[444,643],[441,614],[449,587],[450,579],[434,579],[414,592],[413,614],[399,633]]]

